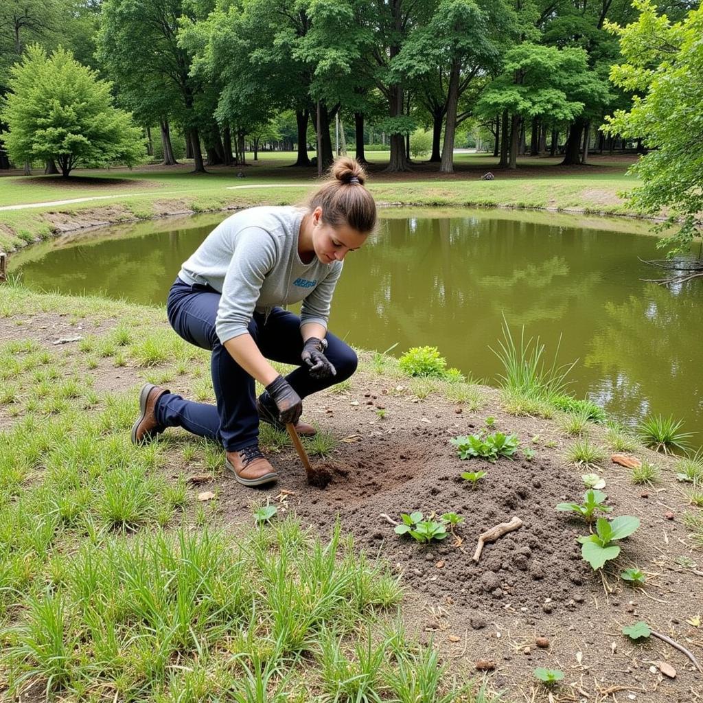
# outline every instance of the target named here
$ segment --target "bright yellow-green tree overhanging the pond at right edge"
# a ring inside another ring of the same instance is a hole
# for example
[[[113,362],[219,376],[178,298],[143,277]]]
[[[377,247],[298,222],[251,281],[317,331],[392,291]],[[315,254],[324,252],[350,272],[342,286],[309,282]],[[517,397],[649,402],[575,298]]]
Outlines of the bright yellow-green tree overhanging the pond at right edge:
[[[642,179],[631,202],[652,215],[668,211],[659,231],[680,226],[660,242],[672,247],[671,257],[686,252],[703,232],[703,9],[672,24],[650,0],[636,0],[634,6],[640,11],[637,22],[607,25],[619,36],[627,61],[613,66],[610,78],[634,93],[633,105],[607,117],[603,129],[642,137],[652,150],[630,169]]]

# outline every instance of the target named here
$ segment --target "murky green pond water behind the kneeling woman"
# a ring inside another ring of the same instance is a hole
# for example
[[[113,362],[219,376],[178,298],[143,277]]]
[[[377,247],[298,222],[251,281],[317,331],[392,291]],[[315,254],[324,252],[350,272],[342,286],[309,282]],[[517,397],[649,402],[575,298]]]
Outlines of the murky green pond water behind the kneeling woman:
[[[11,258],[25,284],[165,304],[186,259],[224,215],[150,221],[67,237]],[[431,344],[494,383],[504,314],[576,364],[572,391],[621,420],[673,414],[703,429],[703,280],[644,283],[661,258],[647,224],[501,210],[385,210],[347,257],[330,330],[392,353]],[[702,444],[700,436],[695,444]]]

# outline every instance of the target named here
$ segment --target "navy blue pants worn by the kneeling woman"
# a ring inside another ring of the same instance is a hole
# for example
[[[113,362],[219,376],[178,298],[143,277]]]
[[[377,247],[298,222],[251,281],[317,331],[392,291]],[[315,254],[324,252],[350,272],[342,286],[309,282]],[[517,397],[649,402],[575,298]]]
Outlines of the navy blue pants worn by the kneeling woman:
[[[254,379],[232,358],[215,333],[219,300],[219,292],[209,286],[188,285],[180,278],[172,285],[166,305],[169,322],[186,342],[212,351],[210,371],[217,407],[167,393],[159,399],[156,419],[164,427],[183,427],[220,442],[226,451],[236,451],[257,441],[259,415]],[[323,380],[312,378],[307,366],[299,366],[303,349],[300,318],[280,307],[273,308],[265,321],[262,314],[254,313],[249,333],[266,359],[298,366],[286,380],[301,398],[349,378],[356,370],[354,349],[328,332],[325,356],[334,364],[337,375]]]

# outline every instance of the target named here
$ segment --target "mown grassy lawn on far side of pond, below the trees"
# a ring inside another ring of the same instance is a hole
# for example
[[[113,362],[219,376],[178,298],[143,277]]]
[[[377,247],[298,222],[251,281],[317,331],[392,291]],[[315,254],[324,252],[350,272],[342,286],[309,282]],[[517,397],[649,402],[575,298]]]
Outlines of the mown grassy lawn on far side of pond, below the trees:
[[[618,197],[632,184],[629,157],[593,157],[593,165],[566,168],[559,159],[520,159],[517,171],[497,170],[496,159],[456,155],[456,174],[440,176],[437,165],[418,164],[408,174],[386,174],[387,153],[368,155],[370,189],[381,205],[424,207],[529,207],[636,214]],[[292,168],[292,153],[250,157],[243,169],[215,167],[190,173],[191,165],[91,171],[65,181],[57,176],[0,179],[0,208],[98,198],[46,207],[0,209],[0,248],[14,250],[57,231],[148,219],[174,212],[209,212],[303,200],[316,183],[315,169]],[[480,176],[491,169],[494,181]],[[242,171],[245,178],[236,174]],[[257,186],[262,186],[257,188]]]

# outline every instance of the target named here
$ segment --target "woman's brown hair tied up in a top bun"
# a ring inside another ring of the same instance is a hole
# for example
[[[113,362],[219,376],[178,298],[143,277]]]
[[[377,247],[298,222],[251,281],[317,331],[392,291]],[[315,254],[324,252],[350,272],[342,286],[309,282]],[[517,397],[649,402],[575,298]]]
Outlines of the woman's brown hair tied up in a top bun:
[[[341,156],[330,167],[330,176],[310,198],[310,210],[322,208],[322,221],[333,227],[348,225],[363,234],[376,226],[376,203],[363,184],[366,172],[356,159]]]

